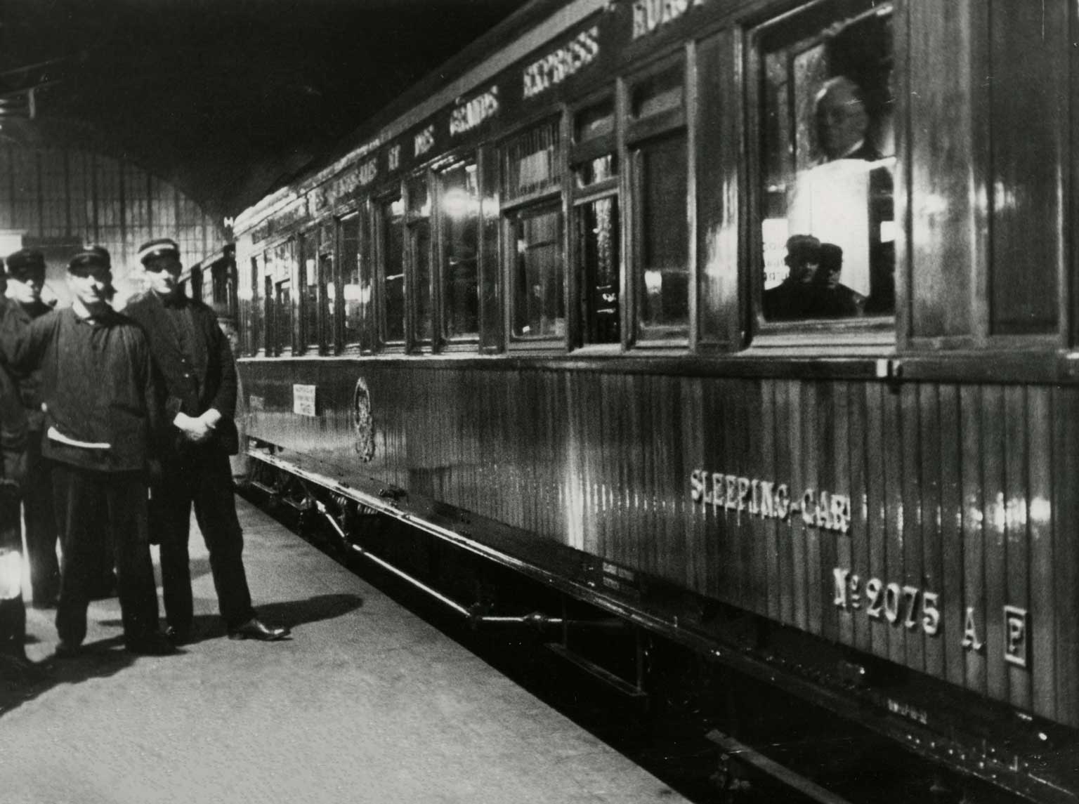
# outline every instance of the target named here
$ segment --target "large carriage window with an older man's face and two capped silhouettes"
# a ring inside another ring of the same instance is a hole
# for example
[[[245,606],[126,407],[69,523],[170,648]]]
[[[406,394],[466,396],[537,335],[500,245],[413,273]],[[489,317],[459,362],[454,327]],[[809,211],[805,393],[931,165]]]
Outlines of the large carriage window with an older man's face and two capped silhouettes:
[[[816,6],[760,37],[768,322],[896,309],[891,16],[871,0],[837,8]]]

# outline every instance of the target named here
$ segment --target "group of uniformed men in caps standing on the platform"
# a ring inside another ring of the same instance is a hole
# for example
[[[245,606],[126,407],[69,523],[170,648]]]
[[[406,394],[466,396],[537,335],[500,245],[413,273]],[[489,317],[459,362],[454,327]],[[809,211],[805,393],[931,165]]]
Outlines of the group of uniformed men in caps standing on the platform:
[[[71,258],[72,302],[62,310],[41,300],[41,253],[23,249],[6,259],[0,655],[16,662],[25,662],[19,501],[33,604],[56,607],[58,656],[79,652],[90,599],[113,571],[128,651],[167,654],[197,637],[188,556],[192,506],[229,637],[288,635],[258,618],[244,571],[229,465],[238,439],[228,340],[214,312],[183,295],[175,241],[145,244],[139,259],[150,289],[123,313],[111,305],[112,265],[101,247]],[[151,542],[161,545],[164,632]]]

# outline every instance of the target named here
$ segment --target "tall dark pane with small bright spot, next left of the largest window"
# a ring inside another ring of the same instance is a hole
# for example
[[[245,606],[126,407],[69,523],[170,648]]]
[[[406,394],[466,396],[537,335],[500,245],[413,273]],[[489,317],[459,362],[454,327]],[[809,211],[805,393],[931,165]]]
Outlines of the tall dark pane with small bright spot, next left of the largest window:
[[[640,256],[637,325],[641,340],[689,332],[689,224],[686,139],[643,146],[640,155]]]

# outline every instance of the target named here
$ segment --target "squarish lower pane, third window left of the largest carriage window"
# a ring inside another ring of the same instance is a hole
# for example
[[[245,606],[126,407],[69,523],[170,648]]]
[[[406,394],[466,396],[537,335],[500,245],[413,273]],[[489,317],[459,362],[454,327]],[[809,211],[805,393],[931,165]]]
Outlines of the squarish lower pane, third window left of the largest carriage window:
[[[514,335],[561,338],[565,335],[562,215],[557,209],[513,216]]]

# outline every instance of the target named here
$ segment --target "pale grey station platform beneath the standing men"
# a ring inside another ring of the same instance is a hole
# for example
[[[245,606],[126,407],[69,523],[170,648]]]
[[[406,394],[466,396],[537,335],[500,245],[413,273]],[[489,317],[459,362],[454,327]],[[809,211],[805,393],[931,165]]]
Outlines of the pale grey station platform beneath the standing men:
[[[260,616],[286,642],[226,638],[192,522],[199,641],[123,651],[117,600],[82,655],[0,690],[4,804],[644,804],[678,793],[433,626],[237,499]],[[156,550],[154,549],[154,553]],[[156,558],[156,556],[155,556]]]

